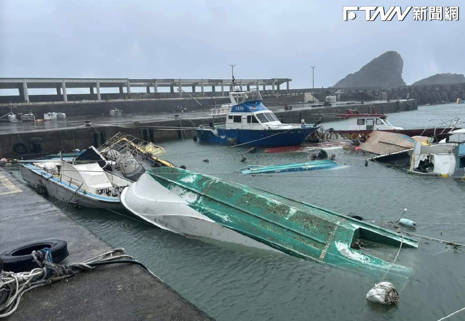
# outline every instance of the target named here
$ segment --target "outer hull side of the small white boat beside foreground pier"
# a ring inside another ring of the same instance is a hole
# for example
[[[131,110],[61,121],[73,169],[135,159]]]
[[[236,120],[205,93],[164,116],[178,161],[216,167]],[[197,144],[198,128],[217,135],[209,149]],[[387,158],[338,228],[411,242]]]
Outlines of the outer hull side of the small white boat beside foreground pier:
[[[95,197],[87,196],[86,194],[76,192],[76,186],[69,186],[64,181],[56,181],[57,179],[53,178],[46,179],[42,175],[26,167],[21,167],[20,173],[21,177],[23,177],[23,179],[31,185],[34,190],[38,191],[40,189],[39,185],[45,186],[47,195],[56,198],[57,200],[94,209],[123,209],[123,205],[121,204],[119,197],[101,197],[97,199]]]

